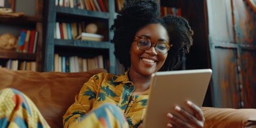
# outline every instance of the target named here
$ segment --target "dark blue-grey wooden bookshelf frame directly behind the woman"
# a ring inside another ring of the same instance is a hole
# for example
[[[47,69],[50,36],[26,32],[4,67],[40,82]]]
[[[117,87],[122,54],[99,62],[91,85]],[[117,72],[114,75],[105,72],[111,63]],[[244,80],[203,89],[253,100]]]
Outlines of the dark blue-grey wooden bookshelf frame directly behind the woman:
[[[115,8],[114,0],[108,1],[108,12],[78,9],[74,7],[56,6],[55,1],[46,1],[47,5],[47,25],[46,25],[46,44],[45,44],[45,66],[44,71],[54,70],[54,54],[58,53],[66,57],[78,55],[83,58],[92,58],[103,55],[109,61],[109,72],[115,73],[114,45],[110,43],[113,34],[109,28],[114,23]],[[85,22],[96,23],[98,33],[104,35],[103,41],[87,41],[76,39],[56,39],[54,29],[56,22]]]

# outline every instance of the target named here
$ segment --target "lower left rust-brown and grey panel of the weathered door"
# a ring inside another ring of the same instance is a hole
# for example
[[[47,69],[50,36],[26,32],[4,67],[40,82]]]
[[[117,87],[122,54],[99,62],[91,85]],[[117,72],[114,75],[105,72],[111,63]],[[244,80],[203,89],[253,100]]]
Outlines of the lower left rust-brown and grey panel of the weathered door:
[[[238,108],[237,50],[215,47],[211,51],[213,61],[213,106]]]

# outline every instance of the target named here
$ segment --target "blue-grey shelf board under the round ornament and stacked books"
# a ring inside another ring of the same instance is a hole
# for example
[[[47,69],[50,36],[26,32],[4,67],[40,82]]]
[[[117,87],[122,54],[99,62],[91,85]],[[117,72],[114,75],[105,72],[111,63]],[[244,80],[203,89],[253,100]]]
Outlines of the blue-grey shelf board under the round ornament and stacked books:
[[[74,47],[88,47],[95,49],[109,49],[114,45],[110,42],[97,42],[86,40],[67,40],[67,39],[55,39],[55,45],[58,46],[74,46]]]

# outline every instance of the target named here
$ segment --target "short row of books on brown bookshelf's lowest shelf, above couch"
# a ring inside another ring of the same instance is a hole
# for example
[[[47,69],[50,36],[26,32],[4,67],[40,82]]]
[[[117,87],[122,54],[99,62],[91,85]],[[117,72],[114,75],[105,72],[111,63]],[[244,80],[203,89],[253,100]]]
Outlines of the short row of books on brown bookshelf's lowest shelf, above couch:
[[[0,66],[0,67],[2,68],[2,66]],[[21,61],[21,60],[9,59],[6,62],[6,66],[3,68],[12,69],[12,70],[36,71],[36,62],[35,61]]]

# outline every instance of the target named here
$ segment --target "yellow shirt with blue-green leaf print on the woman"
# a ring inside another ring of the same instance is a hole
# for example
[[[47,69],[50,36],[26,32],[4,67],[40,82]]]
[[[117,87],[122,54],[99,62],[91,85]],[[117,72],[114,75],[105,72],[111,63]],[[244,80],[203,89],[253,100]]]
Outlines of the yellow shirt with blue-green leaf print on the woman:
[[[108,73],[94,75],[75,97],[75,103],[63,116],[64,127],[76,126],[83,116],[103,103],[114,103],[126,117],[130,127],[137,127],[146,113],[148,92],[133,94],[134,85],[128,71],[118,76]]]

